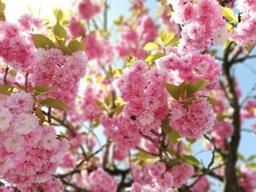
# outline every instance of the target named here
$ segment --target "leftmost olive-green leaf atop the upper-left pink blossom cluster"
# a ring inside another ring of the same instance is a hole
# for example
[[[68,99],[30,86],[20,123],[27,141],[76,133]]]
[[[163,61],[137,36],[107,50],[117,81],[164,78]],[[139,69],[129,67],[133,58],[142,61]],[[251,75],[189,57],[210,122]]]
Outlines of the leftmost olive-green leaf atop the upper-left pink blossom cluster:
[[[34,38],[34,47],[36,48],[43,48],[48,50],[55,47],[53,41],[48,37],[43,36],[42,34],[31,34],[31,36]]]

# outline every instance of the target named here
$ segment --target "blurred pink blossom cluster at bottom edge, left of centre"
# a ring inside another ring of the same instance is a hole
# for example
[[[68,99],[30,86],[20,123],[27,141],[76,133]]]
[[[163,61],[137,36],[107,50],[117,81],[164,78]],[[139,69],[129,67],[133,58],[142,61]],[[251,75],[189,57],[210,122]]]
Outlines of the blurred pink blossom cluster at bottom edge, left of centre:
[[[117,182],[113,176],[102,168],[88,174],[83,172],[83,179],[86,181],[86,188],[91,192],[115,192]]]

